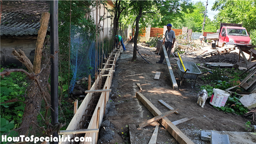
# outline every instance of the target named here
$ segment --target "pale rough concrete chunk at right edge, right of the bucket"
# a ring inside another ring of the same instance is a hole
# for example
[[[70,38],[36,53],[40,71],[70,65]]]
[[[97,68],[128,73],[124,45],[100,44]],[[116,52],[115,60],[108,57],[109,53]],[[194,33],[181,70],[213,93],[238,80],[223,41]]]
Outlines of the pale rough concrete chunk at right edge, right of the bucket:
[[[256,93],[250,95],[244,95],[240,98],[240,102],[248,109],[256,107]]]

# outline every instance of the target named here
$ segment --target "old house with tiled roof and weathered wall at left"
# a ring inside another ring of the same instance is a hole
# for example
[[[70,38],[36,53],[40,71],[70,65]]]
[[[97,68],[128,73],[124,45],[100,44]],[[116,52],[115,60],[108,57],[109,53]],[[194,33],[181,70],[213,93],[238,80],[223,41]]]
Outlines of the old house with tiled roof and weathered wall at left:
[[[22,66],[12,54],[21,49],[32,61],[42,12],[49,12],[49,0],[3,0],[0,25],[0,64]],[[47,32],[49,35],[49,29]]]

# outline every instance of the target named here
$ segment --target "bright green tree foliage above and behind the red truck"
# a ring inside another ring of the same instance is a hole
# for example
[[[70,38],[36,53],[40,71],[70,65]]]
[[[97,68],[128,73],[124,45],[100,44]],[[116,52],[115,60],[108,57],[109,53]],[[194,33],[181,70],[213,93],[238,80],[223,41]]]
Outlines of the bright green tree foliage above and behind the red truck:
[[[243,23],[248,32],[256,29],[256,0],[216,0],[212,10],[218,10],[215,15],[216,26],[220,23]]]

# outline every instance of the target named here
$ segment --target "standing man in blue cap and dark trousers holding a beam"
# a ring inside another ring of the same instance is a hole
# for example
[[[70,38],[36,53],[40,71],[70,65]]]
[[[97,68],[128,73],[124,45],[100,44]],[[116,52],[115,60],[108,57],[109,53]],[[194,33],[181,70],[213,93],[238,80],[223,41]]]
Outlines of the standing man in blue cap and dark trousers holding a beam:
[[[167,26],[167,30],[164,35],[165,37],[163,38],[163,44],[166,48],[168,58],[170,59],[171,50],[173,48],[173,43],[175,43],[175,32],[172,30],[172,24],[168,23],[166,26]],[[163,60],[164,60],[164,53],[161,52],[160,60],[157,61],[157,63],[163,63]],[[164,64],[166,64],[166,63],[164,63]]]

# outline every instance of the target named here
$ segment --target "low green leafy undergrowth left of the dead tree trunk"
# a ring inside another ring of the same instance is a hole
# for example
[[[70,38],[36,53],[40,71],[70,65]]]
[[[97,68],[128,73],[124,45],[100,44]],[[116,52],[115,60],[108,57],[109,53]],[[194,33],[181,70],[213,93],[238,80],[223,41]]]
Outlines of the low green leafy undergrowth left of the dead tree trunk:
[[[0,72],[3,70],[1,68]],[[9,76],[0,78],[0,103],[15,98],[24,101],[25,98],[22,95],[24,95],[26,86],[28,85],[25,78],[26,75],[21,72],[12,72]],[[0,104],[0,116],[6,119],[6,121],[12,121],[14,127],[17,128],[21,124],[24,107],[25,104],[19,101]]]

